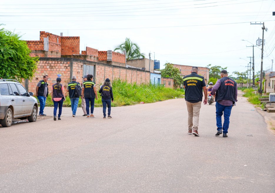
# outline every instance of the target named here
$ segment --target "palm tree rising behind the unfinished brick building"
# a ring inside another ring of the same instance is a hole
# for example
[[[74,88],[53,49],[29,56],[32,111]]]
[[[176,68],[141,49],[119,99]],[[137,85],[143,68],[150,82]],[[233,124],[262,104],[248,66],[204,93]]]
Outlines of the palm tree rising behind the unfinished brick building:
[[[126,60],[134,60],[139,58],[145,58],[144,53],[140,53],[140,48],[136,43],[126,37],[125,42],[118,45],[114,51],[118,50],[119,53],[126,52]]]

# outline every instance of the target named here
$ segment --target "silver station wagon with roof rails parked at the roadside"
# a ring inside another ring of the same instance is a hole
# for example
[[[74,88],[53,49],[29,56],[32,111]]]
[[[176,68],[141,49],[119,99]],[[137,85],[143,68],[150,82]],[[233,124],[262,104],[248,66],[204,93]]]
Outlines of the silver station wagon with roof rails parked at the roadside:
[[[0,79],[0,123],[10,127],[13,118],[27,118],[29,122],[36,121],[38,103],[18,81]]]

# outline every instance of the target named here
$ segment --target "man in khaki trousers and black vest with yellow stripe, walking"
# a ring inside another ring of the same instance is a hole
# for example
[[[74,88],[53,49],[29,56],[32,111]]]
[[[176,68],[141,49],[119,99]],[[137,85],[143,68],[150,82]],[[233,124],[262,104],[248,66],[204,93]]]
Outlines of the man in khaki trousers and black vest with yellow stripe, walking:
[[[192,67],[191,74],[183,79],[185,100],[188,110],[188,134],[199,136],[199,114],[201,109],[202,91],[204,92],[204,104],[207,104],[207,88],[204,77],[198,75],[198,67]],[[193,129],[193,132],[192,132]]]

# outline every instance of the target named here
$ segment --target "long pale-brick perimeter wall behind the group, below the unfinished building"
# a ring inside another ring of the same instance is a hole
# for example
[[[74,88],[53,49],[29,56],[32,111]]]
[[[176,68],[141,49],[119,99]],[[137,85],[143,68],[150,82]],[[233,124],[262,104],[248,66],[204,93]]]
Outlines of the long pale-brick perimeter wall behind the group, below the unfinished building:
[[[84,64],[94,65],[94,81],[96,82],[97,89],[99,89],[100,85],[102,85],[106,78],[109,78],[111,81],[121,79],[125,80],[127,83],[136,83],[138,85],[142,83],[150,83],[149,71],[108,65],[76,58],[41,57],[34,78],[28,80],[28,91],[36,92],[36,85],[39,80],[43,79],[43,75],[49,76],[49,88],[56,83],[56,78],[58,77],[57,74],[61,75],[61,83],[64,87],[67,87],[68,83],[71,82],[72,76],[76,76],[76,80],[81,82]],[[24,84],[25,83],[26,82],[24,82]],[[26,87],[26,85],[24,86]],[[49,93],[51,93],[51,89],[49,89]]]

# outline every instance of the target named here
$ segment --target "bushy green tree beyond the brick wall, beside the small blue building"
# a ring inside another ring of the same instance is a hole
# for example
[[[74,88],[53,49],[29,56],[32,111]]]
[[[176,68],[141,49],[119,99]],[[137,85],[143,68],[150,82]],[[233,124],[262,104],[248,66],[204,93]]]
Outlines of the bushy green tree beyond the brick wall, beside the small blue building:
[[[183,78],[180,76],[179,69],[169,62],[165,63],[164,66],[165,68],[161,70],[161,77],[174,78],[174,87],[180,87],[183,84]]]

